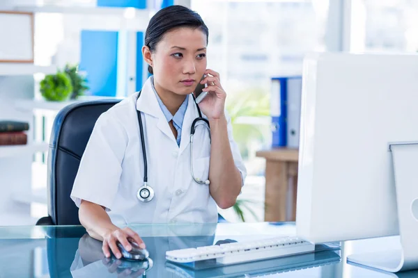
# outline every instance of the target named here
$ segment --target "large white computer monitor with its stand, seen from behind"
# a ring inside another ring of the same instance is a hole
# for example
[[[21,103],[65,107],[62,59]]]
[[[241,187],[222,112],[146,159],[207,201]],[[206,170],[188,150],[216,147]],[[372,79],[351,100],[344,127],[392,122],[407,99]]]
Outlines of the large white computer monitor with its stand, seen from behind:
[[[400,234],[397,252],[348,261],[418,268],[418,55],[310,54],[302,76],[297,235]]]

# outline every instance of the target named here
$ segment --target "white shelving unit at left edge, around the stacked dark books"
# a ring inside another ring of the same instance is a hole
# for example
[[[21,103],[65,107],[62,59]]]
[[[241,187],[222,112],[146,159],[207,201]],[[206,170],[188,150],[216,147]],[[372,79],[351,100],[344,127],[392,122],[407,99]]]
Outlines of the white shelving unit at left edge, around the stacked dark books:
[[[33,155],[48,151],[47,142],[33,138],[33,109],[19,108],[31,102],[38,74],[55,74],[57,67],[30,63],[0,63],[0,120],[17,120],[29,123],[26,145],[0,146],[0,225],[35,224],[31,217],[31,204],[46,204],[47,195],[42,190],[32,190]],[[44,190],[45,191],[45,190]]]

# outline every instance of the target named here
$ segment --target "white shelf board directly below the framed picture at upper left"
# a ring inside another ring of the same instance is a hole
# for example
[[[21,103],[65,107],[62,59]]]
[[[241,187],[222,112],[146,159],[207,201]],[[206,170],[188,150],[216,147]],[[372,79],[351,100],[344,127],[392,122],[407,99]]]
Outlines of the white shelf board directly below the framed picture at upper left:
[[[0,76],[17,76],[32,74],[55,74],[56,66],[39,66],[24,63],[0,63]]]

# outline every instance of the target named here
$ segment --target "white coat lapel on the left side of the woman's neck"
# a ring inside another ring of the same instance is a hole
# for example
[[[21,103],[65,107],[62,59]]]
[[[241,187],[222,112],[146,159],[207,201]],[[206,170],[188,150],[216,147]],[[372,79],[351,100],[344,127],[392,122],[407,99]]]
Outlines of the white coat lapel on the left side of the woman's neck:
[[[157,96],[155,96],[150,78],[148,78],[144,84],[144,87],[142,88],[141,96],[137,101],[137,110],[156,117],[158,119],[157,128],[160,129],[160,131],[168,136],[171,140],[173,140],[173,142],[175,142],[177,145],[176,138],[174,138],[169,123],[167,122],[167,119],[164,116],[164,113],[162,113],[160,105],[158,104]]]

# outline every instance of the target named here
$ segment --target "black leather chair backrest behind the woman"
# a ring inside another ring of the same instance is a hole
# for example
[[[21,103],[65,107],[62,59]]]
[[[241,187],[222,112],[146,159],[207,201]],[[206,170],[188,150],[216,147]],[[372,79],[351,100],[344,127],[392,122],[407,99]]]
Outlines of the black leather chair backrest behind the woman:
[[[80,159],[98,117],[121,99],[82,101],[66,106],[54,120],[49,140],[48,214],[52,224],[80,224],[70,198]]]

